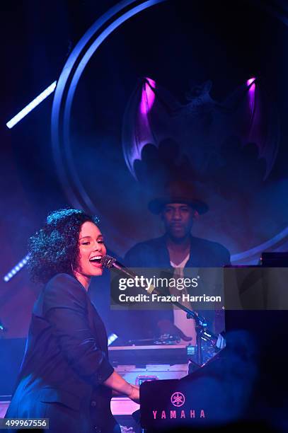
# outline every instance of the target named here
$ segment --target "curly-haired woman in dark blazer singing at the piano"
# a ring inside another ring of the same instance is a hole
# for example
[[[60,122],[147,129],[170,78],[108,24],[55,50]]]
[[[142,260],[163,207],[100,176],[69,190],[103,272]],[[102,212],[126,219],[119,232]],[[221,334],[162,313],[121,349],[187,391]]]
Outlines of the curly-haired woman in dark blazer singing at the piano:
[[[112,391],[139,401],[139,388],[108,361],[105,327],[87,295],[106,253],[97,222],[61,209],[30,238],[31,276],[45,287],[6,418],[49,418],[51,433],[120,432],[110,411]]]

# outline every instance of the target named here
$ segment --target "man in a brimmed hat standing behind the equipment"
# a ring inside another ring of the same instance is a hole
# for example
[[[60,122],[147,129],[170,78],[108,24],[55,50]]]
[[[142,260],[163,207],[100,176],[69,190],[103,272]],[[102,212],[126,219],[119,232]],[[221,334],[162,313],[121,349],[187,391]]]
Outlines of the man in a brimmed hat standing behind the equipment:
[[[183,277],[185,267],[222,267],[229,265],[230,253],[219,243],[192,236],[195,217],[208,211],[205,202],[198,200],[188,183],[173,182],[158,198],[149,202],[149,210],[160,215],[165,234],[160,238],[137,243],[125,255],[129,267],[174,268],[175,277]],[[190,305],[187,305],[191,308]],[[139,313],[139,312],[138,312]],[[195,326],[185,318],[185,313],[170,311],[149,311],[149,321],[154,322],[154,333],[170,333],[180,337],[181,342],[195,344]],[[154,316],[153,318],[151,316]],[[205,312],[206,318],[211,316]],[[213,320],[214,322],[214,320]],[[148,325],[148,324],[147,324]],[[215,323],[209,323],[215,328]],[[217,328],[217,326],[216,326]],[[214,331],[220,332],[218,329]]]

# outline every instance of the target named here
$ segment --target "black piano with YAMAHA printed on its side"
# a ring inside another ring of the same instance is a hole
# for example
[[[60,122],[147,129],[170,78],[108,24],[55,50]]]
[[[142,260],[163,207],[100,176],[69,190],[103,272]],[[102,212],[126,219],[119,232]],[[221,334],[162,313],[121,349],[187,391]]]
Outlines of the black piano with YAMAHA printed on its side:
[[[166,432],[180,427],[212,431],[226,425],[238,431],[239,423],[241,431],[246,425],[260,427],[263,432],[288,431],[288,269],[282,268],[280,288],[287,294],[283,304],[286,310],[279,306],[265,310],[267,287],[259,289],[259,284],[266,284],[267,279],[261,282],[257,268],[243,268],[241,278],[250,284],[253,293],[264,296],[261,308],[226,311],[224,350],[183,379],[142,383],[141,409],[134,416],[139,417],[144,431]],[[281,274],[274,271],[269,278]],[[255,308],[255,296],[253,299]]]

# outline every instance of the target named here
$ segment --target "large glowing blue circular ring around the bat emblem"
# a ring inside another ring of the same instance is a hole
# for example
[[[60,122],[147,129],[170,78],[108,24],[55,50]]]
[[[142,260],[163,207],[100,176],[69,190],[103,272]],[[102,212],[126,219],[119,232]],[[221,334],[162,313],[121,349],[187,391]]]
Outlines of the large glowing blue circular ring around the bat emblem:
[[[100,16],[83,37],[81,37],[81,40],[79,40],[76,47],[74,47],[74,50],[69,55],[62,73],[59,76],[52,105],[52,150],[59,180],[64,187],[69,201],[76,208],[89,209],[90,212],[98,214],[98,210],[79,179],[70,148],[69,129],[71,105],[81,74],[100,44],[116,28],[137,13],[155,4],[163,3],[163,1],[167,0],[123,0],[110,8],[103,16]],[[271,10],[268,12],[274,14],[287,25],[283,17],[277,16],[277,14],[273,13]],[[250,248],[250,250],[232,255],[231,261],[236,262],[246,258],[252,258],[262,253],[266,248],[270,248],[275,245],[275,243],[279,243],[287,235],[288,227],[269,241],[261,243],[255,248]]]

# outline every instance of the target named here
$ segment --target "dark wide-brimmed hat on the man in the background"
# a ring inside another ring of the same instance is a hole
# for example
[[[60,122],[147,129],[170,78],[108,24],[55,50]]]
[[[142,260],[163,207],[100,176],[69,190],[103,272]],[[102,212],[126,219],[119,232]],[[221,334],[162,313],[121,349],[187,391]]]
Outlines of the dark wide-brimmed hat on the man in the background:
[[[198,197],[195,185],[183,181],[174,181],[166,185],[159,192],[159,196],[149,202],[148,209],[152,214],[160,214],[169,203],[188,204],[198,214],[205,214],[209,210],[208,205]]]

